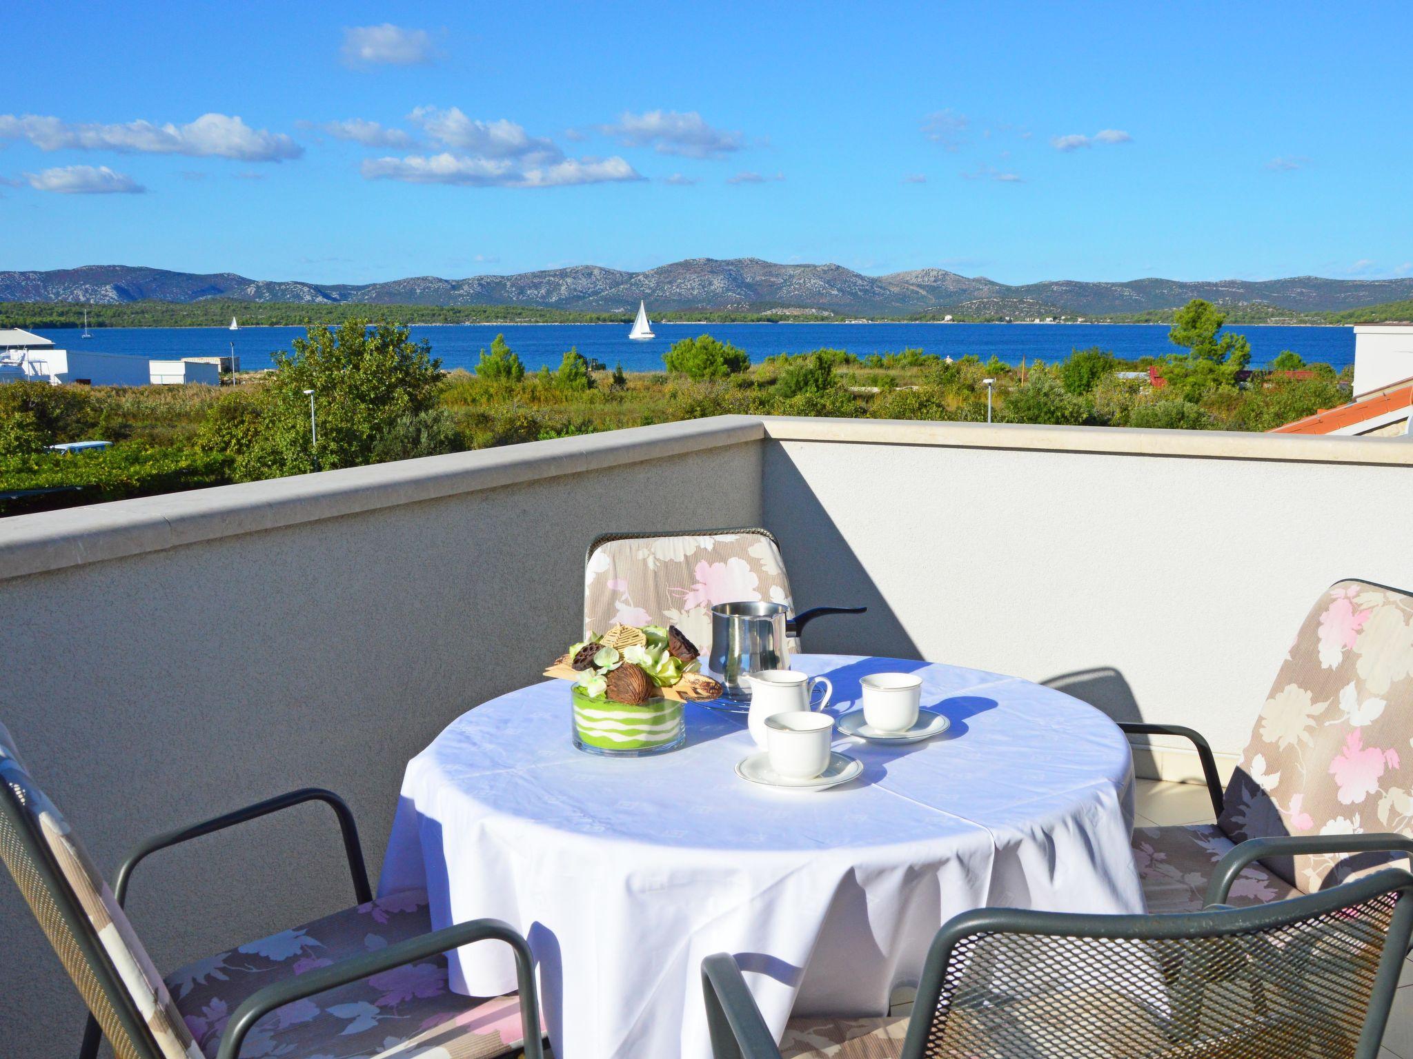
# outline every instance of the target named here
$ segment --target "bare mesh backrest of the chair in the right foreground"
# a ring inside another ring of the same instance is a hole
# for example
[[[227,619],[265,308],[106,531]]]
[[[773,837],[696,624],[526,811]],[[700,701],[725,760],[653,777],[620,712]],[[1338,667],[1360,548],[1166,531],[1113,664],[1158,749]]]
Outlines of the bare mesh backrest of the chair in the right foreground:
[[[1181,915],[976,909],[928,952],[904,1059],[1375,1059],[1413,875]]]

